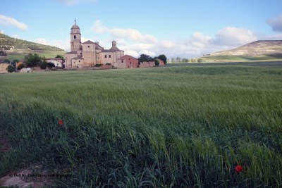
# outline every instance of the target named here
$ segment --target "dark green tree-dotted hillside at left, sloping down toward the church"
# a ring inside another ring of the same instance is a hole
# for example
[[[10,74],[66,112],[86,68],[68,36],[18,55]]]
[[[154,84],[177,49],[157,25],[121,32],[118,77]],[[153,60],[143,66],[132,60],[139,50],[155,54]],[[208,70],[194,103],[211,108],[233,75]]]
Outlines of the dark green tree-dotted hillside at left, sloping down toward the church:
[[[14,48],[14,49],[63,51],[63,49],[59,49],[54,46],[48,46],[44,44],[38,44],[35,42],[29,42],[22,39],[16,39],[0,33],[0,49],[1,48],[4,48],[6,50]]]

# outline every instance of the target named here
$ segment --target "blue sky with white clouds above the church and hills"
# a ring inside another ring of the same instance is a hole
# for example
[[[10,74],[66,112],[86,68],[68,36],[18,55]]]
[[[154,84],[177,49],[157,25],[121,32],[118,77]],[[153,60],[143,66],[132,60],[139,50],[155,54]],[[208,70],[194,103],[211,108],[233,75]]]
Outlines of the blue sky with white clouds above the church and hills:
[[[199,57],[262,39],[282,39],[282,0],[1,0],[0,32],[70,51],[82,42],[125,54]]]

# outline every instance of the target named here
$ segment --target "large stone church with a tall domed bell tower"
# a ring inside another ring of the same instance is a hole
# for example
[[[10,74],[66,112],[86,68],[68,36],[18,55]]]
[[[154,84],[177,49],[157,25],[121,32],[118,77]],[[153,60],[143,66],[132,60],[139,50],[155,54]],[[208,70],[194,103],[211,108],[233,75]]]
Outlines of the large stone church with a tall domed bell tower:
[[[117,67],[118,59],[124,56],[124,51],[118,49],[116,42],[112,42],[111,49],[104,49],[99,42],[81,42],[80,27],[71,27],[71,51],[64,54],[65,68],[93,67],[96,64]]]

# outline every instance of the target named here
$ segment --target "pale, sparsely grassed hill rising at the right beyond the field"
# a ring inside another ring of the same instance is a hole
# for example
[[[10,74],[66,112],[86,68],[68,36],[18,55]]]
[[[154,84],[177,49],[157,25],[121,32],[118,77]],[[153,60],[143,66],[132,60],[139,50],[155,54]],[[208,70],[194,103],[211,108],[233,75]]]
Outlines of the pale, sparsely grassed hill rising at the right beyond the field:
[[[282,40],[259,40],[201,58],[208,62],[282,61]]]

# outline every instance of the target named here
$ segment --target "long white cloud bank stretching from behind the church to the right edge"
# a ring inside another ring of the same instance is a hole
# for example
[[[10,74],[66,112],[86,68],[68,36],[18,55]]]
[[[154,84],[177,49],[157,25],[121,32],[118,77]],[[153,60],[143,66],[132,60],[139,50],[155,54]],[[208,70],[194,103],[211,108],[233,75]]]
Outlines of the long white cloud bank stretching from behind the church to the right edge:
[[[224,27],[214,36],[194,32],[186,39],[157,39],[153,35],[143,34],[135,29],[106,27],[101,20],[96,20],[91,28],[99,35],[109,35],[116,39],[118,48],[125,54],[138,57],[140,54],[158,56],[165,54],[170,57],[193,58],[216,51],[233,49],[254,42],[258,39],[281,39],[282,35],[259,35],[241,27]],[[108,40],[105,44],[108,44]]]

